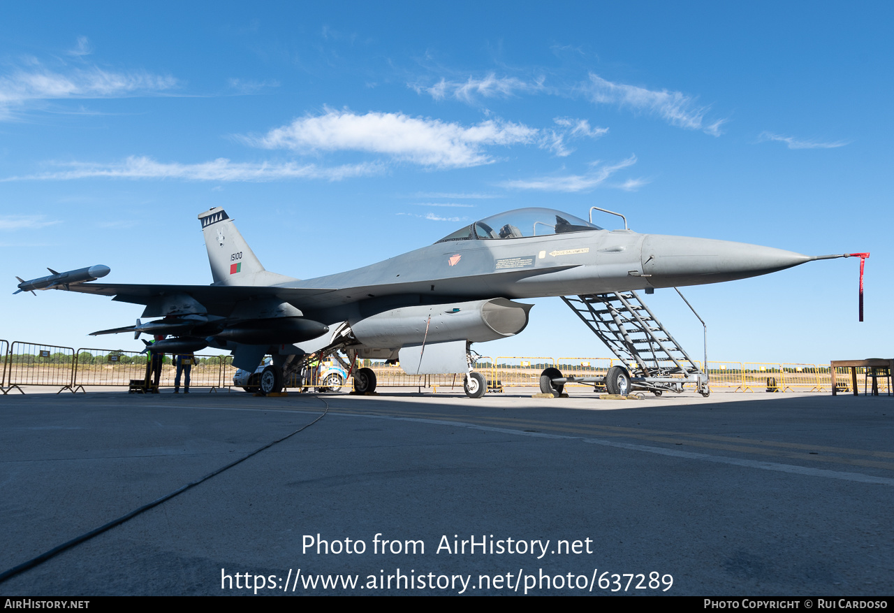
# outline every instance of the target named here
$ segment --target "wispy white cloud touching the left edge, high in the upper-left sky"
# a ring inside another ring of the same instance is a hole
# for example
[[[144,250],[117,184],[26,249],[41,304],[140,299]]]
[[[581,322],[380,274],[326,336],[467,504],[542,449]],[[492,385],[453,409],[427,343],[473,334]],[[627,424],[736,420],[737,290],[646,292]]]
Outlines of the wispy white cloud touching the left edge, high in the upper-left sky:
[[[68,52],[82,58],[91,53],[87,38]],[[39,101],[65,99],[125,98],[155,95],[177,87],[172,76],[143,70],[111,71],[82,60],[72,67],[58,62],[55,68],[29,58],[0,73],[0,119],[11,119],[16,111]]]

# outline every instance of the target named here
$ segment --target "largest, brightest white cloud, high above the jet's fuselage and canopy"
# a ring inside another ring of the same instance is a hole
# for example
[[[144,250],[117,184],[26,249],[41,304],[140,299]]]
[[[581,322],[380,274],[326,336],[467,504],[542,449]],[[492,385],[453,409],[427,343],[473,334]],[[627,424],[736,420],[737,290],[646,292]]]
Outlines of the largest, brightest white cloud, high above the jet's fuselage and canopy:
[[[538,129],[524,123],[489,119],[474,125],[447,123],[402,113],[367,113],[327,109],[324,115],[306,115],[263,136],[237,137],[265,149],[291,149],[299,153],[361,151],[399,161],[436,168],[492,164],[486,151],[493,146],[530,144],[568,155],[565,140],[596,138],[604,128],[591,128],[586,120],[559,118],[558,128]]]

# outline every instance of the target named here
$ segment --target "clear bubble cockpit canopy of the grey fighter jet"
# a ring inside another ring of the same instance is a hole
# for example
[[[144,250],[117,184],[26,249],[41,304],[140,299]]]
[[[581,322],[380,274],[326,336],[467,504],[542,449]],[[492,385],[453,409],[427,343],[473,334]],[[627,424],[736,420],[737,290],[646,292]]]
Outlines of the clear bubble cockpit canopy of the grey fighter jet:
[[[444,236],[438,243],[448,241],[474,241],[493,238],[527,238],[567,232],[602,230],[580,217],[554,209],[515,209],[485,217],[471,226]]]

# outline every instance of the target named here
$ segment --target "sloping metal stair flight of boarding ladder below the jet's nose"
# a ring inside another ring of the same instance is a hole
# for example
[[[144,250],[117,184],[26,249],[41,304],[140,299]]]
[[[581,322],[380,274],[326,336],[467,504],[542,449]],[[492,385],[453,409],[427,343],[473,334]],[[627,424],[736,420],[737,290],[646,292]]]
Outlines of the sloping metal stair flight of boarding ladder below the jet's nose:
[[[631,380],[637,387],[679,392],[683,383],[695,383],[707,396],[707,375],[633,290],[561,299],[632,368]]]

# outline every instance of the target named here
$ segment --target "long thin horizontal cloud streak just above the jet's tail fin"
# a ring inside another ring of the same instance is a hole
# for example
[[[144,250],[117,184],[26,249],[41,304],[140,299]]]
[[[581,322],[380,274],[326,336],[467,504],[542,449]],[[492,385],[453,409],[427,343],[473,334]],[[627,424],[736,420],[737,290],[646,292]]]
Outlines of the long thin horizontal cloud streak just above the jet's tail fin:
[[[163,163],[145,157],[125,159],[113,164],[85,162],[60,163],[65,168],[38,175],[8,177],[0,181],[64,181],[72,179],[182,179],[186,181],[265,182],[288,179],[324,179],[341,181],[354,176],[375,175],[384,167],[375,163],[323,167],[315,164],[234,163],[217,158],[200,164]]]

